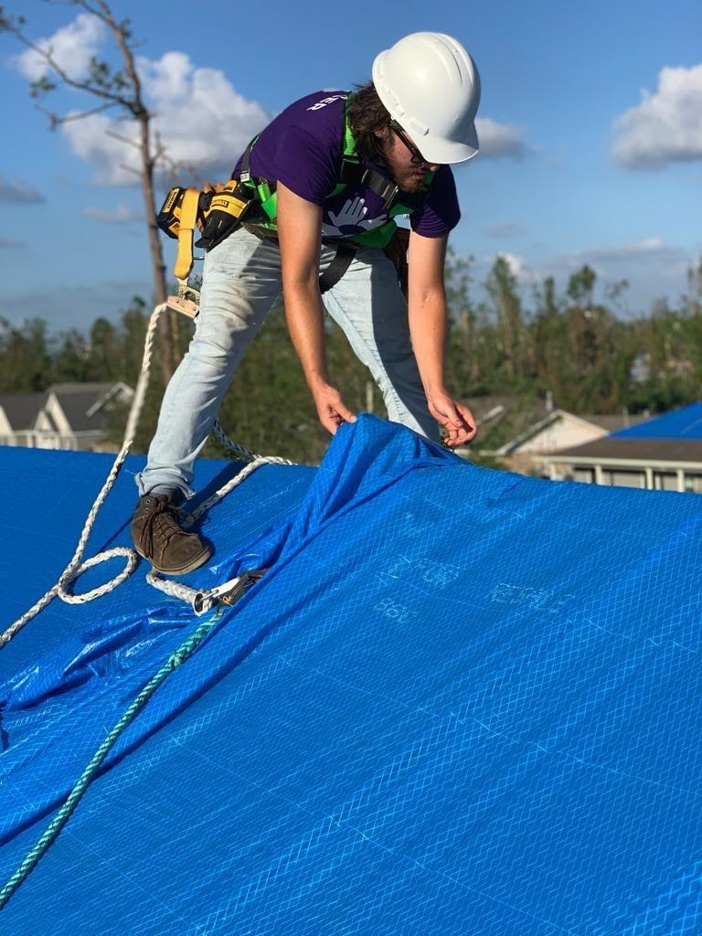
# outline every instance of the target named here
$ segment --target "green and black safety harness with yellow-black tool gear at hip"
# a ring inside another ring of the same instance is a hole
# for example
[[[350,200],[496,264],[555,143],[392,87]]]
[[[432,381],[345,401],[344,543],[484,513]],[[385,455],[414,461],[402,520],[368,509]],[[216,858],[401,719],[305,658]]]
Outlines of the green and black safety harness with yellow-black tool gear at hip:
[[[375,168],[363,165],[358,155],[349,120],[349,104],[353,95],[349,95],[344,106],[344,146],[338,181],[328,198],[340,195],[349,185],[371,189],[383,199],[383,209],[388,212],[388,220],[378,227],[362,231],[350,237],[323,238],[322,241],[336,246],[336,254],[327,269],[319,278],[320,292],[327,292],[336,285],[350,267],[360,247],[380,247],[386,251],[395,263],[401,284],[406,283],[406,271],[401,269],[398,257],[406,257],[406,235],[398,228],[395,218],[399,215],[411,215],[424,204],[428,194],[433,172],[428,172],[422,190],[417,193],[401,192],[399,186]],[[251,154],[256,145],[256,135],[246,147],[241,157],[239,178],[232,178],[224,185],[216,186],[216,191],[199,192],[197,189],[173,188],[168,193],[157,223],[169,237],[178,240],[178,256],[174,268],[176,278],[182,287],[193,266],[193,240],[195,229],[201,231],[196,246],[212,250],[224,241],[229,234],[241,225],[259,238],[277,237],[277,195],[275,183],[267,179],[256,178],[251,174]],[[388,250],[390,241],[400,235],[404,249]]]

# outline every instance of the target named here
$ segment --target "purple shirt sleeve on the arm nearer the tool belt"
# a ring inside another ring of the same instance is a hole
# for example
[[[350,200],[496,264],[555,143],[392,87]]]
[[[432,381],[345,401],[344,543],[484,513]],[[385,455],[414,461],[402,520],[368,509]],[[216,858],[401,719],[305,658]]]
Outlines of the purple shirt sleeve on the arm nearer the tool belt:
[[[338,154],[300,126],[286,127],[278,139],[277,181],[315,205],[323,205],[334,190],[337,162]]]

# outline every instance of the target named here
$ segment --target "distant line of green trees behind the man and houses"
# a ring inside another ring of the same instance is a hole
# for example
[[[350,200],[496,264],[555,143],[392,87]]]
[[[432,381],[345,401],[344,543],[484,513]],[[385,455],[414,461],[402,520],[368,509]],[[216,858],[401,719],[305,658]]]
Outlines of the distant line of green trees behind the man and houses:
[[[517,394],[526,402],[550,391],[556,406],[575,413],[623,407],[658,413],[702,398],[702,260],[674,305],[658,300],[648,316],[629,319],[617,314],[626,284],[600,290],[587,266],[570,277],[563,294],[548,278],[527,298],[507,260],[498,257],[484,284],[487,299],[477,303],[470,260],[449,255],[446,273],[446,373],[458,397]],[[123,380],[134,387],[150,312],[135,297],[119,321],[97,318],[87,334],[50,335],[41,318],[20,327],[0,319],[0,393],[67,381]],[[184,320],[180,324],[183,354],[188,329]],[[364,410],[370,374],[331,321],[328,330],[329,373],[348,405]],[[148,446],[163,392],[158,355],[154,372],[137,450]],[[374,405],[384,412],[377,389]],[[256,451],[297,461],[323,454],[329,439],[317,423],[280,304],[243,358],[220,421]],[[116,423],[116,439],[119,434]],[[210,454],[217,454],[216,443],[210,445]]]

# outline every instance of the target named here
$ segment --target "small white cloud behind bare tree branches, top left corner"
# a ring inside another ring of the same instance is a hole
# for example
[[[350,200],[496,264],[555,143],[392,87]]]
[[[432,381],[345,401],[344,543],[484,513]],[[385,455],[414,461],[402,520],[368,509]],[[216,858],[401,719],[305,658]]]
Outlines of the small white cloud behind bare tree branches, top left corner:
[[[53,36],[37,39],[35,45],[50,52],[56,64],[71,78],[80,79],[87,72],[91,58],[106,38],[105,23],[90,13],[80,13],[73,22],[62,26]],[[32,49],[15,56],[13,62],[30,81],[36,81],[47,72],[46,61]]]

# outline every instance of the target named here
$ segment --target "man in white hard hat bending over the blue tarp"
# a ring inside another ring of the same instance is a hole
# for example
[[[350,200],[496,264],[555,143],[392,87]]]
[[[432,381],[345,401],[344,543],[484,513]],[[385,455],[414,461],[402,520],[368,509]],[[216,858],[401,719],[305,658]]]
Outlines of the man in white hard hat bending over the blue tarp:
[[[132,522],[139,554],[176,575],[211,548],[179,524],[193,467],[246,347],[285,296],[290,335],[322,425],[355,415],[327,371],[323,305],[366,364],[391,420],[448,446],[475,435],[446,390],[444,262],[460,211],[449,163],[477,152],[475,64],[441,33],[402,38],[373,83],[303,97],[250,144],[232,174],[255,196],[244,224],[205,257],[197,330],[168,384]],[[242,189],[243,190],[243,189]],[[382,248],[410,215],[408,301]],[[321,271],[321,279],[320,279]],[[256,388],[252,388],[256,392]]]

